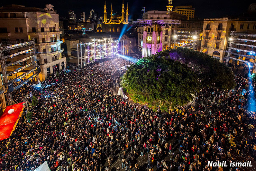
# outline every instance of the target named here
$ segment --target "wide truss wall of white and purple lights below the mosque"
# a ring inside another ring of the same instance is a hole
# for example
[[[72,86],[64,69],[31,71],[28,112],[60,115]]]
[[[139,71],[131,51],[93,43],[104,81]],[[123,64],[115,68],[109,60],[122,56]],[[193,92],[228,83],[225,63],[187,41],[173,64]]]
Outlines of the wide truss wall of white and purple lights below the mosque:
[[[87,58],[87,63],[89,64],[91,62],[95,62],[96,60],[113,56],[114,52],[116,51],[116,48],[114,48],[113,43],[115,43],[115,41],[113,41],[113,38],[91,39],[90,42],[78,43],[77,63],[79,64],[79,59],[81,59],[82,67],[82,61],[85,61],[85,58]]]

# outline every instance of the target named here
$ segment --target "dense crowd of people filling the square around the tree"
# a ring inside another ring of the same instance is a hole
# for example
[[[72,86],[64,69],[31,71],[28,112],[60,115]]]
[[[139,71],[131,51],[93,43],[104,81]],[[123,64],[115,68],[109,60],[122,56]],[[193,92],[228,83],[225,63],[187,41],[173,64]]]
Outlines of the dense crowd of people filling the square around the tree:
[[[208,161],[255,156],[255,113],[247,111],[248,78],[235,77],[232,90],[202,89],[193,103],[152,110],[115,93],[122,58],[49,75],[43,90],[20,89],[16,103],[32,90],[38,98],[31,120],[20,118],[0,142],[0,170],[33,171],[47,161],[52,171],[222,171]],[[147,158],[144,165],[138,164]],[[115,161],[119,167],[113,167]]]

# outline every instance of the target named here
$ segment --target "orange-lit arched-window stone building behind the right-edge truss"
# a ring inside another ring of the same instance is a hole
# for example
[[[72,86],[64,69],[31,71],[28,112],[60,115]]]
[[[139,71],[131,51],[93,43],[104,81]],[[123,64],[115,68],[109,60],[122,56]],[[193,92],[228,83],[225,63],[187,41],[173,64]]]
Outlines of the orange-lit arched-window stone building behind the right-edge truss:
[[[256,33],[256,21],[241,18],[204,19],[201,52],[223,61],[230,32]],[[253,42],[250,42],[253,45]],[[254,47],[255,48],[255,47]]]

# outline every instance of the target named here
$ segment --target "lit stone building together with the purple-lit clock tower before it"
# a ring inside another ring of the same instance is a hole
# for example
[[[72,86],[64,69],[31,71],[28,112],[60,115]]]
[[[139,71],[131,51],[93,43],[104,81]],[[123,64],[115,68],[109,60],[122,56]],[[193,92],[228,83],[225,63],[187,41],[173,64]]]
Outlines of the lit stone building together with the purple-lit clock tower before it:
[[[156,52],[174,48],[175,31],[202,31],[203,21],[187,20],[185,15],[168,11],[171,4],[168,1],[167,11],[147,11],[143,14],[146,21],[181,20],[179,24],[139,24],[138,25],[138,46],[141,50],[142,57],[155,54]]]

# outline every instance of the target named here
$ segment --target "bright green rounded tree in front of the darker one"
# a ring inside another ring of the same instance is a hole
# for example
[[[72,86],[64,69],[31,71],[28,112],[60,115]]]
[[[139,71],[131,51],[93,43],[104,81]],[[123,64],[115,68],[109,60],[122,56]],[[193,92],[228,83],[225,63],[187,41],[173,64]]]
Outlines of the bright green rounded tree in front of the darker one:
[[[162,109],[186,104],[200,89],[193,71],[168,56],[152,55],[140,59],[129,67],[124,80],[135,101]]]

